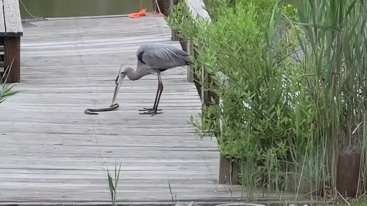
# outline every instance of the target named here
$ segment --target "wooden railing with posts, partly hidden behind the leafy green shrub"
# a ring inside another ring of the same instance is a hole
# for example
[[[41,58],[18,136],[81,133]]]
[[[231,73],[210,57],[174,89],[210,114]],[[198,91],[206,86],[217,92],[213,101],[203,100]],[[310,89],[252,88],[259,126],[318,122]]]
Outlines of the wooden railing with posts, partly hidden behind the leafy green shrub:
[[[205,4],[203,0],[157,0],[159,5],[156,5],[156,0],[153,0],[154,7],[157,10],[158,6],[161,9],[161,12],[164,15],[169,15],[170,12],[173,11],[172,6],[178,4],[179,2],[184,1],[186,6],[191,11],[191,14],[194,18],[197,15],[201,16],[201,18],[210,21],[210,16],[208,12],[204,9]],[[196,52],[194,51],[194,45],[191,40],[186,40],[178,36],[178,31],[172,29],[172,41],[179,41],[183,51],[188,52],[189,55],[196,56]],[[201,79],[199,79],[194,71],[197,69],[201,69]],[[199,66],[198,68],[194,68],[193,66],[188,67],[187,71],[187,80],[189,82],[194,82],[197,92],[201,98],[201,103],[206,106],[210,106],[211,104],[211,97],[215,98],[215,94],[210,91],[205,91],[201,89],[199,82],[203,81],[205,84],[211,82],[210,76],[208,76],[207,71],[203,66]],[[219,104],[219,100],[217,101]],[[229,159],[221,156],[219,160],[219,183],[229,184],[232,182],[233,184],[238,183],[239,177],[239,167],[236,163],[232,163]],[[231,181],[232,177],[232,181]]]

